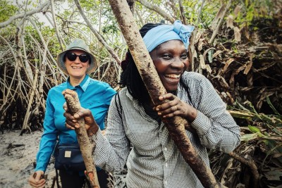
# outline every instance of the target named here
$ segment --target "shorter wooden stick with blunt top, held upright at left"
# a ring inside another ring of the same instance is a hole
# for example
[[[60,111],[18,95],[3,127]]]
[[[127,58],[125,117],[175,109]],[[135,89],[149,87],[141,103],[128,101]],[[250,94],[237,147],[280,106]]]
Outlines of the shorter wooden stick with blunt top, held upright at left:
[[[80,111],[80,101],[78,99],[78,94],[71,90],[66,89],[63,91],[63,96],[66,99],[66,104],[68,105],[68,111],[74,115],[78,111]],[[82,153],[82,158],[86,167],[86,177],[89,180],[91,187],[99,188],[99,182],[97,177],[96,168],[94,166],[94,160],[92,158],[93,144],[91,144],[90,139],[87,135],[87,131],[85,129],[85,122],[83,118],[78,120],[80,127],[75,129],[76,136],[78,137],[78,144],[80,145],[80,151]]]

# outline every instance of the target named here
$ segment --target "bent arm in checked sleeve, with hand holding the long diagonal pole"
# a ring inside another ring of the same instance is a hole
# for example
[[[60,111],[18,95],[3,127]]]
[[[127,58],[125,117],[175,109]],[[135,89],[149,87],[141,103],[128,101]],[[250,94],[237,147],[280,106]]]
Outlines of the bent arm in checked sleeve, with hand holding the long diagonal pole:
[[[156,107],[158,114],[162,118],[180,115],[195,128],[202,145],[225,152],[233,151],[240,144],[240,128],[226,111],[226,104],[211,82],[202,75],[194,81],[197,86],[192,88],[195,108],[173,94],[165,94],[159,99],[168,99],[168,102]]]

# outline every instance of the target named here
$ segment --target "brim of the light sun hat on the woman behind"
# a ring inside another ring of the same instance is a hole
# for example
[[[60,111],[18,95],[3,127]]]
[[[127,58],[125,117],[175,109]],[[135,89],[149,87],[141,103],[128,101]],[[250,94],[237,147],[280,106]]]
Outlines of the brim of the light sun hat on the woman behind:
[[[73,49],[85,51],[85,49],[80,49],[78,47],[75,47],[75,48],[71,48],[66,51],[63,51],[57,56],[58,67],[63,71],[63,73],[66,73],[67,75],[68,75],[68,71],[66,70],[66,65],[65,65],[65,62],[63,61],[63,56],[65,56],[66,52],[73,50]],[[97,61],[96,61],[96,58],[93,56],[93,54],[91,54],[88,51],[85,51],[85,52],[90,56],[90,59],[91,59],[90,67],[87,68],[86,70],[86,73],[90,74],[90,73],[93,73],[97,69]]]

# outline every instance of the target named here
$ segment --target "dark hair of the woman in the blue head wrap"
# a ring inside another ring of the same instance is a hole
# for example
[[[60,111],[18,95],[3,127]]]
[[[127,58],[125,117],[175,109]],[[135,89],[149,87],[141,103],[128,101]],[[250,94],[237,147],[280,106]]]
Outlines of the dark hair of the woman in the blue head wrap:
[[[161,25],[161,23],[147,23],[140,29],[142,37],[154,27]],[[145,87],[145,84],[137,70],[133,57],[128,50],[125,60],[122,62],[123,73],[121,74],[121,87],[127,87],[128,92],[140,104],[145,104],[150,98]]]

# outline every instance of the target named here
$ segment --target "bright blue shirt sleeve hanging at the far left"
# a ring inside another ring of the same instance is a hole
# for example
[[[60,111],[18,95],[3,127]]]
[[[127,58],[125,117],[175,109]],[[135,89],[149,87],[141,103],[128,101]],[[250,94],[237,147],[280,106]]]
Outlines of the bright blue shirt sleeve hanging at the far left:
[[[51,91],[51,90],[50,90]],[[44,118],[44,132],[39,144],[39,151],[37,153],[36,161],[37,165],[35,171],[42,170],[46,171],[47,165],[50,161],[51,154],[56,144],[57,132],[54,125],[54,106],[51,104],[51,94],[49,92],[46,101],[46,111]]]

